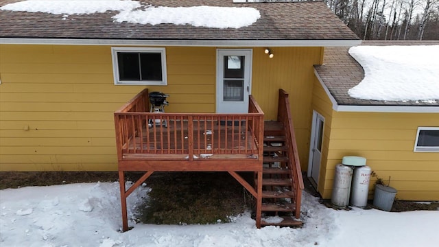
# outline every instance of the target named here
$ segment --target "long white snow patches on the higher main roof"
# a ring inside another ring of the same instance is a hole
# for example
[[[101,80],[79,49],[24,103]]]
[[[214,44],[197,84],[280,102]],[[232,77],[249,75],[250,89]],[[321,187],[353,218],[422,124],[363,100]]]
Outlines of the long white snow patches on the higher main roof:
[[[4,5],[0,10],[44,12],[49,14],[93,14],[119,11],[117,22],[195,27],[239,28],[252,25],[261,14],[254,8],[237,7],[154,7],[131,0],[26,0]],[[65,19],[65,18],[64,18]]]

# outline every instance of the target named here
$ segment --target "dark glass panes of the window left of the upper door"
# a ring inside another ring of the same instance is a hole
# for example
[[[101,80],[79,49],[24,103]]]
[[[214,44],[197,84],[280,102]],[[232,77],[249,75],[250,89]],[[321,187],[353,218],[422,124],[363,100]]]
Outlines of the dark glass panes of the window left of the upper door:
[[[118,52],[119,80],[161,81],[160,53]]]

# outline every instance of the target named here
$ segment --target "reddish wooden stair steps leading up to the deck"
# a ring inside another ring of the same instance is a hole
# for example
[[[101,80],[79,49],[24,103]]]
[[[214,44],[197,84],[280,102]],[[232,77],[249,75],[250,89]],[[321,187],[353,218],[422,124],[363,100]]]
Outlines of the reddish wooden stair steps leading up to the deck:
[[[266,121],[262,177],[261,226],[302,226],[296,211],[292,170],[289,167],[285,128],[278,121]],[[257,176],[255,176],[257,185]],[[276,216],[275,220],[272,220]],[[265,220],[264,220],[265,219]]]

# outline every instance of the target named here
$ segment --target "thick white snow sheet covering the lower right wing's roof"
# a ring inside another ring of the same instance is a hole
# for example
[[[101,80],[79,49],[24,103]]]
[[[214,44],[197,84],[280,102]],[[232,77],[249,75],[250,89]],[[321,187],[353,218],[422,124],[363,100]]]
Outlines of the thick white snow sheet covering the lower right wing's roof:
[[[439,99],[439,45],[357,46],[349,54],[364,79],[348,94],[357,99],[422,101]]]

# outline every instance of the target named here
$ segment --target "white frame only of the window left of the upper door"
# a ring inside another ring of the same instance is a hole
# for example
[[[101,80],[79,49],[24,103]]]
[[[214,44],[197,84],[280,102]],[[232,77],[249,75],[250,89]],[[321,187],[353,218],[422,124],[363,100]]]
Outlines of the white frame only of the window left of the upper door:
[[[162,80],[120,80],[119,61],[117,54],[119,52],[131,53],[154,53],[161,54],[162,62]],[[167,68],[166,68],[166,49],[165,47],[111,47],[112,71],[115,85],[153,85],[167,86]]]

